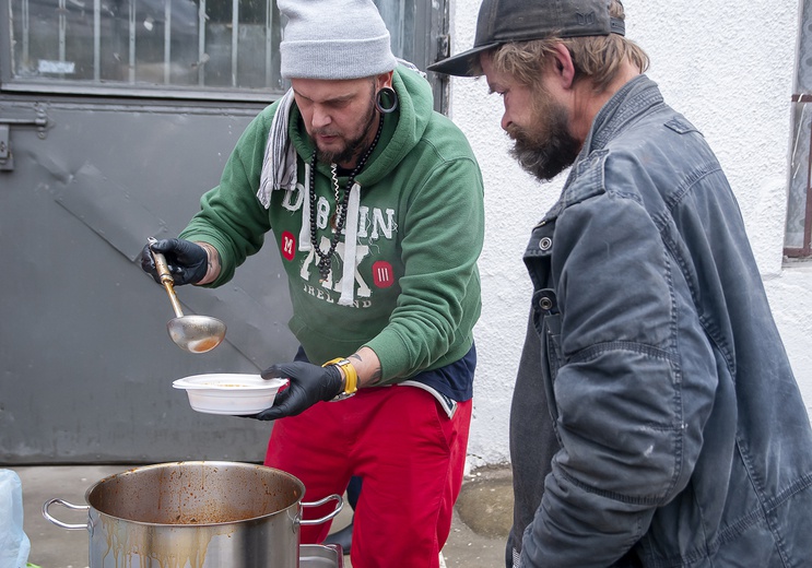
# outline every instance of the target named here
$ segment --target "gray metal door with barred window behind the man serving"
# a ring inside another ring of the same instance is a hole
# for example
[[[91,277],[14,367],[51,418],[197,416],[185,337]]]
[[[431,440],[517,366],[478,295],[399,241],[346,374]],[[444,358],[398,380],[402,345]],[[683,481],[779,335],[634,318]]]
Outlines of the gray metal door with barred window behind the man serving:
[[[437,7],[380,4],[397,54],[434,59]],[[292,358],[275,247],[178,288],[228,327],[201,355],[169,340],[138,256],[284,91],[272,1],[0,0],[0,463],[262,459],[269,424],[198,414],[172,381]]]

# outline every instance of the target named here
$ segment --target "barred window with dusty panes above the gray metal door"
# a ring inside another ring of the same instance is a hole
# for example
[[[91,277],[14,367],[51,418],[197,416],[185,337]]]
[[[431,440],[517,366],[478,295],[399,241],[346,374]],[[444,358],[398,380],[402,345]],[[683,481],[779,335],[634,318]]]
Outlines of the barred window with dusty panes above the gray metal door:
[[[286,88],[275,0],[5,1],[4,91],[268,98]],[[424,68],[437,7],[376,3],[393,52]]]

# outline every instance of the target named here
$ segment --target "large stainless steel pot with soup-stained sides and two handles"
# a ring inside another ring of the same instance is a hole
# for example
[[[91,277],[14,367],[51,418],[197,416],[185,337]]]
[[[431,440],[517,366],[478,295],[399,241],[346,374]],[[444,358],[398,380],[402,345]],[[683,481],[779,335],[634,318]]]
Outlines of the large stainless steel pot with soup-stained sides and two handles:
[[[305,486],[280,470],[235,462],[174,462],[137,468],[92,485],[86,506],[50,499],[43,514],[57,526],[90,532],[91,568],[296,568],[299,525],[336,517],[339,495],[302,502]],[[337,501],[336,510],[302,519],[303,507]],[[86,509],[87,524],[69,524],[49,509]]]

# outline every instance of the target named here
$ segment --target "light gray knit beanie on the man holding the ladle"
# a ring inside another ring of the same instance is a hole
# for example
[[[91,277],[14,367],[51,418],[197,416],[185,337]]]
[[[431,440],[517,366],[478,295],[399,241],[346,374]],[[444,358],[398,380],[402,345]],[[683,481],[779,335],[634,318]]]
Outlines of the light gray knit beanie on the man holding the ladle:
[[[278,0],[287,17],[284,79],[361,79],[391,71],[389,32],[372,0]]]

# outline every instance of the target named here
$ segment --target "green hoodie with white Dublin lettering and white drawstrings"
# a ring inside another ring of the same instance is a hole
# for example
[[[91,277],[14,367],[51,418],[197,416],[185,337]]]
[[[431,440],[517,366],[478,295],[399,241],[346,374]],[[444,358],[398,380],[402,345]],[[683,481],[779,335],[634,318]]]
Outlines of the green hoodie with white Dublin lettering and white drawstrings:
[[[217,249],[222,271],[210,285],[220,286],[273,229],[293,303],[289,326],[307,357],[321,364],[366,345],[380,359],[384,383],[468,353],[481,310],[476,259],[484,233],[482,176],[464,135],[432,109],[432,91],[421,75],[399,67],[392,85],[398,110],[385,115],[380,141],[355,179],[361,187],[355,223],[348,215],[326,282],[308,250],[309,218],[304,230],[302,225],[314,145],[295,103],[289,137],[297,154],[296,187],[271,191],[269,209],[257,198],[276,102],[248,126],[220,185],[201,198],[201,211],[180,234]],[[342,191],[346,181],[339,178]],[[328,164],[316,167],[315,193],[317,211],[328,205],[334,211]],[[319,218],[317,238],[326,251],[331,232],[326,216]],[[352,286],[343,277],[353,245],[345,242],[349,227],[357,227]],[[350,305],[339,304],[342,289],[349,291]]]

